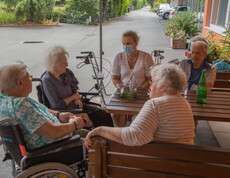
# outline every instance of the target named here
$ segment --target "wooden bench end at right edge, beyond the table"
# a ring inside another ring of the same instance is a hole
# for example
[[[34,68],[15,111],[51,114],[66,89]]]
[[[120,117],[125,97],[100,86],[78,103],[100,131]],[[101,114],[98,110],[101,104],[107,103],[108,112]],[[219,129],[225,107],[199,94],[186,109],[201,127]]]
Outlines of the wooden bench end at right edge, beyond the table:
[[[217,72],[213,91],[230,91],[230,72]]]

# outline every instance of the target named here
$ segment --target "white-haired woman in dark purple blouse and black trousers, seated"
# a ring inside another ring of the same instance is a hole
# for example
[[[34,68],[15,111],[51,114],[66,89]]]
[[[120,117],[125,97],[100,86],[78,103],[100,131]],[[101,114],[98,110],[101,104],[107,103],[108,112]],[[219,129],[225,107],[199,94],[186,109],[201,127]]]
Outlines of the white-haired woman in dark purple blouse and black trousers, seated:
[[[42,83],[51,109],[77,109],[83,108],[88,113],[87,127],[110,126],[113,121],[105,110],[85,104],[77,93],[78,80],[74,73],[67,68],[68,53],[62,46],[54,46],[49,50],[45,59],[47,71],[42,76]]]

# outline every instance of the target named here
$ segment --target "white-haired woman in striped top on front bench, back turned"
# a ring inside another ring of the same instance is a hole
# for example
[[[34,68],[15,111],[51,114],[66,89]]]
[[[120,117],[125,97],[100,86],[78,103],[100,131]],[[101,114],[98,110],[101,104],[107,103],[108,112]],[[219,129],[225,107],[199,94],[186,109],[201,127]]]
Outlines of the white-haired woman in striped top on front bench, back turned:
[[[155,66],[151,70],[150,99],[129,127],[98,127],[89,132],[85,145],[92,145],[91,137],[100,135],[129,146],[151,141],[194,144],[194,119],[189,103],[180,95],[186,76],[175,64]]]

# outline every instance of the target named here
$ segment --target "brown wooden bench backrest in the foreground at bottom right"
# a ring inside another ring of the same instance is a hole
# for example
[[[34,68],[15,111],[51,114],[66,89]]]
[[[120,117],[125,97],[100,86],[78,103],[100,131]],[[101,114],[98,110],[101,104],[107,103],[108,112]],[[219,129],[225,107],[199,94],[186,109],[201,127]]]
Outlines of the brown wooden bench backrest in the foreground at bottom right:
[[[105,177],[230,177],[230,150],[151,142],[129,147],[95,137],[89,169]]]

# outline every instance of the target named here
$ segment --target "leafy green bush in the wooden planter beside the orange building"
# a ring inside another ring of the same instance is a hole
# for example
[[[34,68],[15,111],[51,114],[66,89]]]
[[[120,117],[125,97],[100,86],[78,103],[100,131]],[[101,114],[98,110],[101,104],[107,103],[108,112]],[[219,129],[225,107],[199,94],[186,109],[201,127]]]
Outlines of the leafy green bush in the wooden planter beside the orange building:
[[[199,20],[196,17],[196,13],[193,11],[176,13],[172,19],[166,24],[164,31],[167,35],[170,34],[171,29],[178,28],[185,32],[186,36],[195,36],[200,31],[197,24]]]

